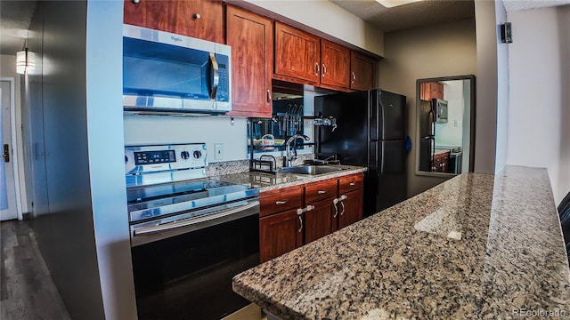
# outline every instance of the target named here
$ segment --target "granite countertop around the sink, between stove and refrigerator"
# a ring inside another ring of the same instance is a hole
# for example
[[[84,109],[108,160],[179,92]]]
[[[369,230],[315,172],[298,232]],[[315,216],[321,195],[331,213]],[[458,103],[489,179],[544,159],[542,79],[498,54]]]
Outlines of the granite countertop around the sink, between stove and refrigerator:
[[[282,173],[277,174],[264,173],[264,172],[240,172],[232,174],[217,175],[213,177],[216,180],[225,182],[232,182],[235,184],[246,185],[251,188],[259,188],[260,192],[273,190],[276,188],[286,188],[297,186],[309,182],[325,180],[330,178],[338,178],[348,174],[365,172],[366,167],[354,165],[334,165],[343,168],[342,171],[330,172],[318,175],[306,175],[296,173]]]

